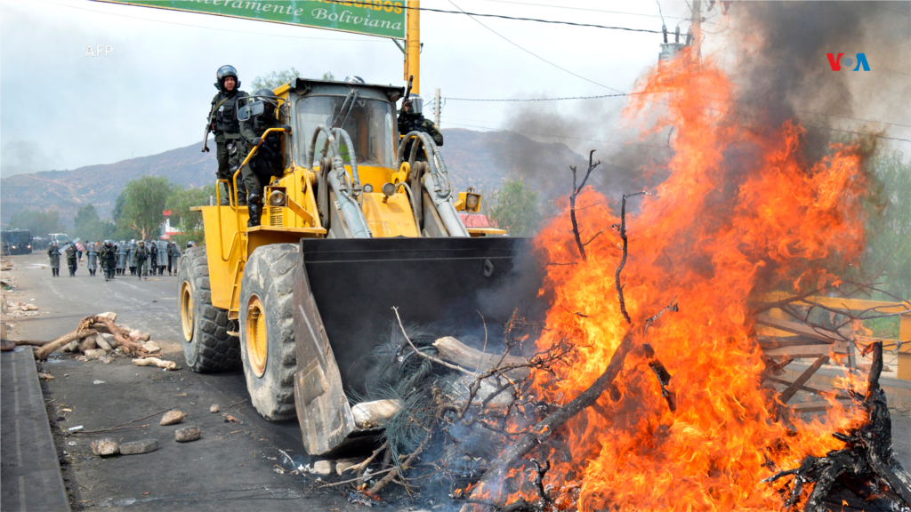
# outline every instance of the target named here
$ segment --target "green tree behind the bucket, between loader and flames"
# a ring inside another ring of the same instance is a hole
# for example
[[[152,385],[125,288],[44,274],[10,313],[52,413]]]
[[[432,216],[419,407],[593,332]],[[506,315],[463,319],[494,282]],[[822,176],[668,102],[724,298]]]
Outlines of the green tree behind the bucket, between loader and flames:
[[[507,179],[503,188],[487,194],[486,215],[514,237],[534,234],[540,222],[540,200],[522,179]]]

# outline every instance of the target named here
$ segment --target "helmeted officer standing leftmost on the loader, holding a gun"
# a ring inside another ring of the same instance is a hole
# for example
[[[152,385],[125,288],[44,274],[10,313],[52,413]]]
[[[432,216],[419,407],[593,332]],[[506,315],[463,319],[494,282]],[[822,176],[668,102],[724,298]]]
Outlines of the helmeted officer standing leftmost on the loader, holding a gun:
[[[209,129],[215,134],[217,146],[215,155],[219,160],[219,179],[228,179],[227,194],[221,198],[220,204],[227,205],[233,196],[234,184],[230,183],[234,172],[241,167],[241,125],[237,118],[237,111],[242,106],[243,97],[247,93],[241,91],[241,80],[237,77],[237,70],[233,66],[222,66],[215,74],[217,79],[215,88],[219,94],[212,98],[209,110]],[[206,137],[209,137],[208,132]],[[205,144],[205,143],[203,143]],[[205,148],[205,145],[203,145]],[[203,150],[208,150],[205,148]],[[237,182],[238,203],[247,204],[247,191],[241,179]]]

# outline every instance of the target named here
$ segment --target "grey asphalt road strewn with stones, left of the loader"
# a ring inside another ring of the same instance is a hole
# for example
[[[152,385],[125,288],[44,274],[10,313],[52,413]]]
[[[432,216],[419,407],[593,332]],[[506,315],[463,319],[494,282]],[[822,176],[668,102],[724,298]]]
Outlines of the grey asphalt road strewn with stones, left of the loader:
[[[35,303],[41,314],[13,321],[11,337],[48,340],[72,331],[79,321],[99,312],[117,312],[118,324],[151,333],[165,359],[184,366],[177,372],[136,367],[121,357],[111,364],[82,362],[56,354],[39,371],[56,378],[42,384],[58,449],[67,450],[65,483],[74,510],[112,507],[124,510],[347,510],[342,487],[320,489],[316,476],[275,472],[289,467],[280,449],[307,464],[296,421],[266,422],[251,407],[241,372],[194,374],[185,368],[180,344],[178,284],[165,275],[139,281],[122,276],[105,282],[80,267],[76,277],[66,269],[54,278],[46,255],[14,256],[13,275],[21,291],[10,300]],[[101,273],[100,271],[98,272]],[[35,299],[34,302],[30,299]],[[99,381],[101,383],[99,383]],[[220,414],[210,405],[219,404]],[[231,404],[236,404],[230,407]],[[154,416],[115,432],[68,435],[67,428],[85,431],[125,424],[143,416],[177,407],[188,417],[183,425],[199,425],[199,441],[174,441],[176,426],[159,425]],[[229,408],[230,407],[230,408]],[[226,422],[231,415],[243,424]],[[56,418],[55,418],[56,416]],[[56,425],[55,425],[56,424]],[[89,443],[100,436],[120,442],[159,439],[159,450],[138,456],[100,459]],[[333,477],[335,480],[339,478]]]

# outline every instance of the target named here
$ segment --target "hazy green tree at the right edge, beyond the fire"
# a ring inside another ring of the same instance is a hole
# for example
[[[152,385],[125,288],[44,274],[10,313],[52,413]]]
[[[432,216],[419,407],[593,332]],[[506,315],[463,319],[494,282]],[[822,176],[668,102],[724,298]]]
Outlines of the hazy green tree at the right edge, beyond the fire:
[[[911,165],[899,151],[871,160],[869,169],[879,181],[881,208],[867,222],[864,271],[881,278],[885,288],[911,298]]]

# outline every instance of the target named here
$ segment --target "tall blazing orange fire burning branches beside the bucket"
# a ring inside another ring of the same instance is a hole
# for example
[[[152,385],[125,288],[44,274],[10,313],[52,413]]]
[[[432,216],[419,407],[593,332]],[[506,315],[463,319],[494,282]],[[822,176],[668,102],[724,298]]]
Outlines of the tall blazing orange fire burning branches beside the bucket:
[[[680,302],[644,340],[672,375],[676,411],[645,360],[631,354],[615,381],[619,401],[604,394],[600,411],[584,411],[540,448],[555,465],[546,483],[578,482],[582,511],[777,509],[777,490],[760,480],[842,447],[830,433],[858,419],[835,408],[812,422],[794,420],[789,433],[776,420],[773,391],[760,386],[750,311],[759,293],[812,289],[858,260],[864,155],[834,145],[806,161],[797,122],[758,128],[734,116],[728,77],[711,59],[698,69],[689,62],[683,56],[650,72],[640,90],[670,94],[636,96],[626,111],[630,120],[648,119],[645,133],[673,128],[669,177],[630,200],[639,208],[627,215],[623,282],[633,323],[675,296]],[[548,401],[566,403],[588,388],[630,328],[614,288],[616,203],[606,201],[634,191],[579,196],[583,239],[607,229],[586,248],[588,261],[579,258],[568,210],[537,237],[548,261],[564,263],[547,267],[542,293],[552,307],[538,348],[561,339],[578,346],[557,378],[535,376],[535,393]]]

